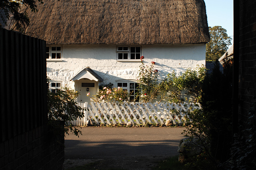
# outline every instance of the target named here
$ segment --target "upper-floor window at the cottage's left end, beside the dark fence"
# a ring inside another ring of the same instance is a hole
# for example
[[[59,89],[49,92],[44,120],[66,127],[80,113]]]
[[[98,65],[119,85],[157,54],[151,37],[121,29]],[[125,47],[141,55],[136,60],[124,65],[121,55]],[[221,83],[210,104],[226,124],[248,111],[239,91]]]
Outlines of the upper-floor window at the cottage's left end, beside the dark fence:
[[[46,46],[46,60],[62,60],[62,46]]]

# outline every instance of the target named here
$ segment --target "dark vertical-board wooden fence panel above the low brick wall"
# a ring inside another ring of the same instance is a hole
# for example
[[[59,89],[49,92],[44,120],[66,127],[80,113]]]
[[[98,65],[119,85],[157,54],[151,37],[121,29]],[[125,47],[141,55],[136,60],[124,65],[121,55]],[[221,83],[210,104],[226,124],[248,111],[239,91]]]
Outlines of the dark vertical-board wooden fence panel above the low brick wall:
[[[46,42],[0,29],[1,141],[47,121]]]

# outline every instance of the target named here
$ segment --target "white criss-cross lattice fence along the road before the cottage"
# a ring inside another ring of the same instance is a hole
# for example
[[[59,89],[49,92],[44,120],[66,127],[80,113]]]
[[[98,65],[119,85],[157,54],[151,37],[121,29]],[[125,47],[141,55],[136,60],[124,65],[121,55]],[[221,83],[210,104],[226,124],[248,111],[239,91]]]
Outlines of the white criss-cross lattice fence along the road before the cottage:
[[[174,125],[183,124],[187,112],[200,109],[198,103],[78,103],[85,108],[84,118],[73,121],[75,126],[85,126],[91,119],[94,124],[127,124],[144,123],[164,124],[172,120]]]

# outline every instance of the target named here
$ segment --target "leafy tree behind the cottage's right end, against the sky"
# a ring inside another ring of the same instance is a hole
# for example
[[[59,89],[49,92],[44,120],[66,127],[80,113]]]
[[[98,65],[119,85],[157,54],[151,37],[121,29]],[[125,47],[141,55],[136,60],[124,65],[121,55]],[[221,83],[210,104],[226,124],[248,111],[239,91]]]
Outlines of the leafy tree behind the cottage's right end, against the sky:
[[[206,44],[206,61],[219,59],[231,45],[232,38],[228,37],[227,30],[221,26],[209,27],[210,42]]]

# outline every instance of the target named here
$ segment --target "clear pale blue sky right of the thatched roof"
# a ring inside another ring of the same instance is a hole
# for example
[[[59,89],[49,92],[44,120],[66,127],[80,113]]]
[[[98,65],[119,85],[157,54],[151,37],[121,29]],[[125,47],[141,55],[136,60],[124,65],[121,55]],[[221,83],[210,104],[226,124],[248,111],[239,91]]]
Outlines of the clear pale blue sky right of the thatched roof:
[[[233,39],[233,0],[204,0],[208,26],[222,26]],[[233,43],[233,40],[232,40]]]

